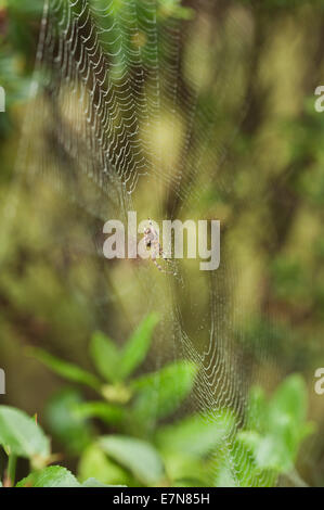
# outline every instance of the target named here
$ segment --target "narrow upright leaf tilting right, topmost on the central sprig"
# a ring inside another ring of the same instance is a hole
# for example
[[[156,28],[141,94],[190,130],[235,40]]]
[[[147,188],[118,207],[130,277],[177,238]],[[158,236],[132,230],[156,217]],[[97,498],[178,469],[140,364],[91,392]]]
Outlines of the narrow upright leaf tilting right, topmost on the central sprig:
[[[121,353],[120,374],[122,380],[127,379],[144,361],[151,346],[154,328],[158,321],[158,315],[148,315],[127,342]]]

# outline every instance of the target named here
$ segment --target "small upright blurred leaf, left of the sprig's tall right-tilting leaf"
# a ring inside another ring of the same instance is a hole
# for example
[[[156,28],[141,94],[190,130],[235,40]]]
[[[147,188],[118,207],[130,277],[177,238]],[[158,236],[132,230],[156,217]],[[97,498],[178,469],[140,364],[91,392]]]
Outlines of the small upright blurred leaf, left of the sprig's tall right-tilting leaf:
[[[92,335],[90,354],[98,372],[108,382],[120,381],[120,353],[113,340],[101,332]]]

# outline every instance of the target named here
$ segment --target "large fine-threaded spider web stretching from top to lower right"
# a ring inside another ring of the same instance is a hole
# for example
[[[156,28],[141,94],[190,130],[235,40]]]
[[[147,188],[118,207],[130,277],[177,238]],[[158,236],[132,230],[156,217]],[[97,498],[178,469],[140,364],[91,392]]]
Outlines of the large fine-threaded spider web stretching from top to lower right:
[[[150,263],[103,260],[101,232],[129,211],[157,221],[217,217],[211,199],[232,193],[226,162],[249,105],[252,42],[249,12],[236,2],[47,0],[20,156],[27,187],[42,176],[61,196],[54,227],[41,191],[34,203],[50,225],[50,247],[60,242],[79,255],[70,263],[78,275],[89,267],[98,275],[91,291],[83,277],[74,281],[78,296],[96,307],[95,328],[114,335],[114,311],[129,330],[147,311],[159,313],[151,368],[194,361],[199,372],[186,412],[208,410],[215,422],[224,411],[235,415],[211,468],[215,484],[220,459],[241,484],[249,457],[235,434],[251,384],[267,383],[243,348],[249,318],[232,298],[231,247],[222,248],[217,271],[183,260],[172,277]],[[258,360],[267,356],[262,342],[254,348]],[[269,481],[260,474],[248,484]]]

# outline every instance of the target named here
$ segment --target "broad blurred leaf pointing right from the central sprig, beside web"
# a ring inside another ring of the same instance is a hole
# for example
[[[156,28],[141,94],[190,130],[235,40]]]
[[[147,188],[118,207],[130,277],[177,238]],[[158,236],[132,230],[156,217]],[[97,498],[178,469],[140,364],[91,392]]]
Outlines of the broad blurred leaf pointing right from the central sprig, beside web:
[[[131,388],[138,393],[133,406],[135,419],[148,422],[171,415],[191,393],[196,373],[196,365],[176,361],[132,381]]]

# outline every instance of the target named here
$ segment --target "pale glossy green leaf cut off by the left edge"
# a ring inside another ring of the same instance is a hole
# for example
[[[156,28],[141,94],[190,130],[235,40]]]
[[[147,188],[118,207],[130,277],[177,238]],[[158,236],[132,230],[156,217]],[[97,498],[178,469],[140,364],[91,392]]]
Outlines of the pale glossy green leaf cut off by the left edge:
[[[50,442],[39,425],[25,412],[0,406],[0,444],[17,457],[44,464],[50,457]]]

